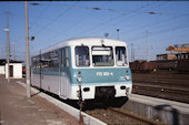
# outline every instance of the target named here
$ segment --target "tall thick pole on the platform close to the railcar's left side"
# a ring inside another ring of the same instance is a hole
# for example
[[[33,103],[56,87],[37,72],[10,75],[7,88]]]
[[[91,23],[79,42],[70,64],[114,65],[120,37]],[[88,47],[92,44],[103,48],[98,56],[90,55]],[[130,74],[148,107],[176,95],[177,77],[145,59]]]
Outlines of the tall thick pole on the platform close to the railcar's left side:
[[[27,70],[27,97],[31,97],[30,87],[30,60],[29,60],[29,31],[28,31],[28,2],[24,3],[26,7],[26,70]]]

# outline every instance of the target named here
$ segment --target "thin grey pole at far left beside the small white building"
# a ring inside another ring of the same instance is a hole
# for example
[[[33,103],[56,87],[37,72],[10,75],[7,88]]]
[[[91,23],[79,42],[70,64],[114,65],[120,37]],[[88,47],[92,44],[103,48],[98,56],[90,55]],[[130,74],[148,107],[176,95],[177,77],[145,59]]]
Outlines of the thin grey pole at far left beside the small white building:
[[[7,12],[7,64],[8,64],[8,83],[10,82],[10,70],[9,70],[9,60],[10,60],[10,45],[9,45],[9,12]]]

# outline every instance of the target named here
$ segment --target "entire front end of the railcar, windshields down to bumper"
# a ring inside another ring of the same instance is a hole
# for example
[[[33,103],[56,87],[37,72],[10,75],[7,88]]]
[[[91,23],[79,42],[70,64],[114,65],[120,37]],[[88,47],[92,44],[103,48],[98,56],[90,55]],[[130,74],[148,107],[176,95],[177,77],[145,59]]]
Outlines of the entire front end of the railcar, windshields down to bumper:
[[[125,42],[81,41],[71,46],[70,98],[107,100],[131,94],[132,76]]]

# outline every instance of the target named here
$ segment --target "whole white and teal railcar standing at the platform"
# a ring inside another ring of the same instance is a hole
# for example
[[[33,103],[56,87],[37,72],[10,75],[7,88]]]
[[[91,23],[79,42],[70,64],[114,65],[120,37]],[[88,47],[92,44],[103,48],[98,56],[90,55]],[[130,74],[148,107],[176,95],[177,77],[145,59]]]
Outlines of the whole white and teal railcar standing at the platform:
[[[31,58],[31,83],[64,100],[126,97],[132,80],[126,42],[103,38],[63,41]],[[81,85],[81,87],[79,87]]]

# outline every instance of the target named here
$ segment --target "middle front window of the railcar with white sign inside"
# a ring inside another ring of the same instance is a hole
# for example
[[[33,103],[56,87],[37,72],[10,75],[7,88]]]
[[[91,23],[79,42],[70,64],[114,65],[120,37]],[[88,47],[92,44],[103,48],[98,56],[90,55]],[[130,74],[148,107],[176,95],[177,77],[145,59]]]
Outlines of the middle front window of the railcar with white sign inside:
[[[94,66],[113,66],[113,51],[111,46],[92,46],[92,63]]]

